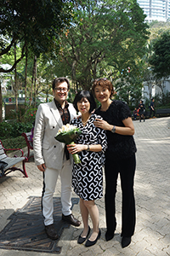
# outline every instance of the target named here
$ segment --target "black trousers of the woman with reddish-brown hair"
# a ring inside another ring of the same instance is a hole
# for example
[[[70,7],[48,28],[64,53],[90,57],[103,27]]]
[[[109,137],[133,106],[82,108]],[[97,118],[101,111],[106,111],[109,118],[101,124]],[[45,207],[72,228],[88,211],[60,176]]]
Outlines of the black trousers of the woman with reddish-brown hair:
[[[124,160],[105,161],[105,214],[107,232],[116,230],[116,185],[118,173],[122,187],[122,236],[133,236],[136,222],[133,180],[136,168],[135,154]]]

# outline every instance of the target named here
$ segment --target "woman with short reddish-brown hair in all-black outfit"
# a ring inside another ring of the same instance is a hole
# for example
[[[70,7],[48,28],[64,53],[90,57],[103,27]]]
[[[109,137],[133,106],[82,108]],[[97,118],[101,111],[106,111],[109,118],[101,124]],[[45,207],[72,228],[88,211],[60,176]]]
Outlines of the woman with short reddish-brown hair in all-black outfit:
[[[134,126],[127,104],[111,101],[113,85],[108,79],[96,79],[92,90],[101,106],[95,111],[103,117],[94,125],[106,130],[108,148],[105,152],[105,213],[106,241],[116,230],[116,183],[118,173],[122,186],[122,247],[127,247],[135,227],[135,202],[133,179],[136,168],[136,146],[133,140]]]

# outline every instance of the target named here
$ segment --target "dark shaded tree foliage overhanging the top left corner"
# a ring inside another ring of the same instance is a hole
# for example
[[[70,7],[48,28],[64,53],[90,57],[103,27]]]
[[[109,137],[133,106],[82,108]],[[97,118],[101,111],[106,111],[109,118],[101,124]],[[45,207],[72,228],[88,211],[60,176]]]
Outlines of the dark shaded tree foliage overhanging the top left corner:
[[[71,3],[62,0],[0,0],[0,6],[0,33],[6,39],[0,39],[0,55],[8,55],[14,43],[20,44],[22,49],[19,61],[26,48],[37,56],[59,49],[56,39],[61,28],[69,24]],[[5,73],[3,68],[0,71]]]

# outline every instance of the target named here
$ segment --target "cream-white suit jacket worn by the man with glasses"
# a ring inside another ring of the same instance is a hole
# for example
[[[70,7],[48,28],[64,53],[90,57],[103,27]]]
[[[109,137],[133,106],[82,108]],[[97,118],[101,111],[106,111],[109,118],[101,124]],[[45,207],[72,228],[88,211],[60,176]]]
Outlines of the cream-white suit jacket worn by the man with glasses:
[[[76,109],[69,103],[71,119],[77,116]],[[36,114],[34,128],[34,159],[36,166],[45,165],[48,168],[61,169],[65,156],[65,143],[59,143],[54,137],[63,122],[55,102],[42,103]],[[71,165],[72,157],[67,161]]]

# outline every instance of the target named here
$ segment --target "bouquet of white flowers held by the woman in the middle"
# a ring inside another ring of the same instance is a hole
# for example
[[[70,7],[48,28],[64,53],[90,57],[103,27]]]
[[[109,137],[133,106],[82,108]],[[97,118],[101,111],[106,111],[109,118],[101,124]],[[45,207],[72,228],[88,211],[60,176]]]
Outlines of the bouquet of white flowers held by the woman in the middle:
[[[59,141],[59,143],[74,144],[74,141],[79,137],[82,131],[74,125],[63,125],[61,129],[59,129],[55,139]],[[73,160],[76,164],[79,164],[81,161],[79,159],[78,154],[72,154]]]

